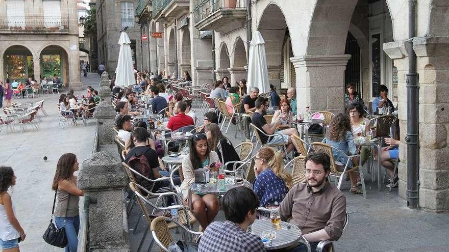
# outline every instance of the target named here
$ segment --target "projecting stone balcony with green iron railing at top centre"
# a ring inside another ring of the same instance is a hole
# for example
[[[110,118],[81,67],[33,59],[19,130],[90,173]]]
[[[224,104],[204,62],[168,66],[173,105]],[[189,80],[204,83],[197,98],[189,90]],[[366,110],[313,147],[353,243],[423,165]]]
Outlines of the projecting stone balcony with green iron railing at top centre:
[[[198,30],[229,33],[244,26],[246,0],[194,0],[193,15]]]

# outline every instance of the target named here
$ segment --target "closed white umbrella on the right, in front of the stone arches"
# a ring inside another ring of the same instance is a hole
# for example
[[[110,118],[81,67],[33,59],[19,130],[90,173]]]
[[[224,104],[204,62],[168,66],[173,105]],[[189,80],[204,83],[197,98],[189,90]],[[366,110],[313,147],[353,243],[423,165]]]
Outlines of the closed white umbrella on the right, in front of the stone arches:
[[[256,31],[251,41],[250,59],[248,59],[247,94],[251,93],[251,87],[258,87],[260,94],[270,91],[264,43],[262,35]]]

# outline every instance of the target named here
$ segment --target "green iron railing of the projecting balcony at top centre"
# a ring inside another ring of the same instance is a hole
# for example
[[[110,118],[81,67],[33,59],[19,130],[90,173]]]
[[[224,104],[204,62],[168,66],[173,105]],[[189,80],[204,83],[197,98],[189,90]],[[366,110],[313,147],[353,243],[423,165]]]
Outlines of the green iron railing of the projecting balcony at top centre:
[[[229,5],[229,2],[233,2],[232,0],[228,1],[229,0],[194,0],[193,15],[195,24],[221,8],[246,8],[246,0],[236,0],[235,7]],[[225,2],[228,2],[228,5]]]

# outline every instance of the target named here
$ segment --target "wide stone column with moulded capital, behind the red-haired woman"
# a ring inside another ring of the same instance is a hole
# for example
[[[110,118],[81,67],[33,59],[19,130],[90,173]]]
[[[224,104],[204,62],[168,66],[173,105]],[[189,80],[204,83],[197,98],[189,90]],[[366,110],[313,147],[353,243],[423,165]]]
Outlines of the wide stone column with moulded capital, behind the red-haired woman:
[[[350,58],[349,54],[290,58],[296,71],[297,113],[304,114],[306,106],[312,111],[343,112],[344,70]]]

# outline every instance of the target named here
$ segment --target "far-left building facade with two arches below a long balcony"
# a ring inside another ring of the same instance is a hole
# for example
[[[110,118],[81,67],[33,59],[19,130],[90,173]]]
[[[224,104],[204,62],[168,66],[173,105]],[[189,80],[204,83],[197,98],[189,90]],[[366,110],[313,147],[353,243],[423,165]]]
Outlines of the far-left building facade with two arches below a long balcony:
[[[0,1],[0,79],[57,75],[81,87],[76,13],[69,0]]]

